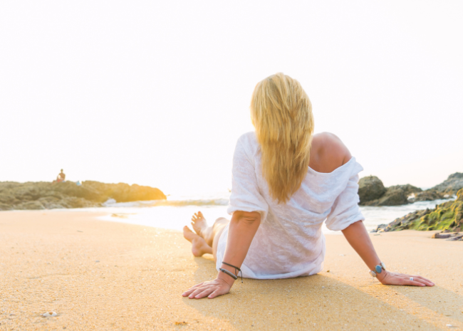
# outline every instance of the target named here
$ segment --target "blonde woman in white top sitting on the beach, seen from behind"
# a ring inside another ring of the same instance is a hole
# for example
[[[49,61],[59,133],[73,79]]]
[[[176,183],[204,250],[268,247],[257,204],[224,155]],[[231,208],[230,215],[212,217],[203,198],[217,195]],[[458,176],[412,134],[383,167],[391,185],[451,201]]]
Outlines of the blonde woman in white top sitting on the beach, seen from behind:
[[[214,254],[217,278],[194,285],[189,298],[229,293],[236,275],[275,279],[323,269],[323,221],[343,231],[350,246],[383,284],[433,286],[420,275],[391,273],[378,258],[358,208],[358,172],[338,137],[313,135],[312,105],[297,80],[277,73],[256,85],[251,100],[256,132],[242,135],[234,152],[228,213],[213,226],[201,212],[184,227],[194,256]]]

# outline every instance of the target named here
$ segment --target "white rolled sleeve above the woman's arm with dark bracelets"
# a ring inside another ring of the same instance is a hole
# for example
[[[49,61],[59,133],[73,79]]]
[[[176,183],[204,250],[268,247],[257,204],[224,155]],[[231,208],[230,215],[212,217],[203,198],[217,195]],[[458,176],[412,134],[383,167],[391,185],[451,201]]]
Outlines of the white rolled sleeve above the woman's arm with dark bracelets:
[[[251,162],[241,140],[236,143],[233,156],[232,186],[228,214],[234,211],[259,211],[261,222],[269,213],[269,204],[261,195],[257,184],[254,162]]]

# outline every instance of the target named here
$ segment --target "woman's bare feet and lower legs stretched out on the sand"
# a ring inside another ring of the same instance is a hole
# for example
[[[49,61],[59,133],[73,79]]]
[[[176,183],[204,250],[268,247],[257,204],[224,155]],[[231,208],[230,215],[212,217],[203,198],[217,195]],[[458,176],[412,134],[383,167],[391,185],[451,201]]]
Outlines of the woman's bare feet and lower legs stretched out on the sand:
[[[214,254],[215,260],[220,235],[229,222],[228,219],[220,217],[214,222],[214,225],[207,226],[202,212],[195,213],[192,216],[192,226],[196,233],[193,233],[187,226],[183,228],[183,236],[192,243],[193,255]]]

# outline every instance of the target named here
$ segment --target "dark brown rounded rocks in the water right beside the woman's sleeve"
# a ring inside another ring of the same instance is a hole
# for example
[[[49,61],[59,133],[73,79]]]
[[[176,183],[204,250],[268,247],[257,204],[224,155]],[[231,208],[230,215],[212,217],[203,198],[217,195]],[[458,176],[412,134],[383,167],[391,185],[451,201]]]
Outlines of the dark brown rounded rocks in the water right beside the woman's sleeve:
[[[385,188],[378,177],[363,177],[358,182],[358,195],[362,206],[398,206],[408,204],[408,197],[419,194],[422,189],[406,185],[395,185]]]

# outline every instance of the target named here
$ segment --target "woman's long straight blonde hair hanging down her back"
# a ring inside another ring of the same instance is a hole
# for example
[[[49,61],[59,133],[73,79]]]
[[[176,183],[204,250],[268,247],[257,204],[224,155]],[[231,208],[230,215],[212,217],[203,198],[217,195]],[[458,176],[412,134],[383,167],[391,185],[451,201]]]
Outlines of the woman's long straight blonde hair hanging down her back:
[[[286,203],[306,177],[313,136],[312,104],[301,84],[283,73],[257,83],[251,120],[261,145],[262,174],[273,199]]]

